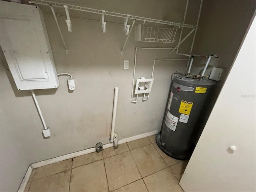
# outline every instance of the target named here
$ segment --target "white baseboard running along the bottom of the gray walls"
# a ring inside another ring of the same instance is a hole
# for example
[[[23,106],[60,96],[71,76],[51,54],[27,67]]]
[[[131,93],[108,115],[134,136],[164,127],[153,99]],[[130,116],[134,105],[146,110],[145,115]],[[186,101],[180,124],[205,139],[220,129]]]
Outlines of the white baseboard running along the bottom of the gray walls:
[[[140,134],[140,135],[136,135],[136,136],[132,136],[132,137],[129,137],[129,138],[124,138],[122,140],[119,140],[118,144],[122,144],[122,143],[130,142],[130,141],[134,141],[134,140],[137,140],[137,139],[141,139],[141,138],[144,138],[144,137],[152,136],[152,135],[155,135],[157,133],[158,133],[158,130],[148,132],[148,133],[144,133],[144,134]],[[110,148],[112,146],[113,146],[113,143],[108,143],[108,144],[104,144],[102,147],[103,147],[103,149],[106,149],[106,148]],[[52,158],[52,159],[48,159],[48,160],[44,160],[44,161],[40,161],[40,162],[30,164],[30,166],[28,167],[28,170],[27,170],[27,172],[26,172],[26,174],[25,174],[25,176],[24,176],[24,178],[23,178],[23,180],[20,184],[20,188],[18,189],[18,192],[23,192],[25,190],[26,185],[28,183],[28,180],[30,178],[30,175],[31,175],[33,169],[38,168],[38,167],[42,167],[42,166],[46,166],[46,165],[49,165],[49,164],[52,164],[52,163],[60,162],[60,161],[63,161],[63,160],[67,160],[67,159],[70,159],[70,158],[74,158],[74,157],[77,157],[77,156],[81,156],[81,155],[84,155],[84,154],[92,153],[92,152],[95,152],[95,151],[96,151],[96,148],[93,147],[93,148],[89,148],[89,149],[86,149],[86,150],[82,150],[82,151],[78,151],[78,152],[74,152],[74,153],[70,153],[70,154],[62,155],[62,156],[55,157],[55,158]]]

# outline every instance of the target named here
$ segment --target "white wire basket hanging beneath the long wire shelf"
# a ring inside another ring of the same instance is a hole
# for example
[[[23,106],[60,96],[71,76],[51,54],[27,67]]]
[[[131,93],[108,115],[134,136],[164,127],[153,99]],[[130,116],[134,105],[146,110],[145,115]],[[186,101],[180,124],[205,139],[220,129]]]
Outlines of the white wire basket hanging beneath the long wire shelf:
[[[177,29],[145,27],[144,23],[134,26],[134,40],[143,42],[173,43]]]

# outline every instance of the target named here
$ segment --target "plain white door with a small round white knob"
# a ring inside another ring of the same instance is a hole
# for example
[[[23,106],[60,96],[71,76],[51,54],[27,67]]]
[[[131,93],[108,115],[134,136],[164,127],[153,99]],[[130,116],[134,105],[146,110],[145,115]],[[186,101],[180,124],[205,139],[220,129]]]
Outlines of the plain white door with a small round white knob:
[[[184,191],[256,190],[255,28],[254,18],[180,180]]]

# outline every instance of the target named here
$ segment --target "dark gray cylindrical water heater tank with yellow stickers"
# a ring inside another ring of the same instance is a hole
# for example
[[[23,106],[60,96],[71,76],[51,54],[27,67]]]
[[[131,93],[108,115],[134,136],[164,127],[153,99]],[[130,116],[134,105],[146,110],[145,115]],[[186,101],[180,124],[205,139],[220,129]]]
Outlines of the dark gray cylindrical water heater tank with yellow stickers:
[[[159,148],[168,156],[187,159],[199,128],[198,119],[215,82],[208,79],[174,78],[161,132],[156,135]]]

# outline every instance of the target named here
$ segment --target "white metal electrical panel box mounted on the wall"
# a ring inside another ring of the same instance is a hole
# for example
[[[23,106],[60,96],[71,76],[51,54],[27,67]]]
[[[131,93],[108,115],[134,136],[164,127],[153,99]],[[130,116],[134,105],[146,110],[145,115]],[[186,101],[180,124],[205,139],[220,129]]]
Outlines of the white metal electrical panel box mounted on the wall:
[[[0,0],[0,45],[18,90],[59,86],[42,11]]]

